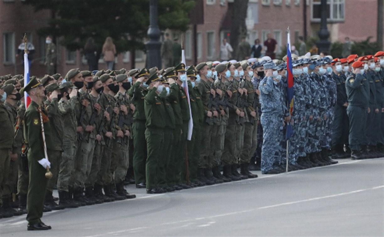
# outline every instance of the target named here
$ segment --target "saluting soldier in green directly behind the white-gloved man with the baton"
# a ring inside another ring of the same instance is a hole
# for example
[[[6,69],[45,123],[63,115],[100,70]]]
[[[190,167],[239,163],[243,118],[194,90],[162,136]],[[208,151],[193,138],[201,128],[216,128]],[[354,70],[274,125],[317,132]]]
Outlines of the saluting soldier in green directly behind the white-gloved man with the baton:
[[[50,127],[52,129],[52,147],[49,149],[48,156],[51,162],[51,172],[53,174],[52,178],[48,181],[46,195],[45,195],[45,205],[51,208],[52,210],[60,210],[65,206],[58,205],[53,200],[52,192],[53,187],[57,183],[57,178],[59,176],[59,168],[61,163],[61,153],[63,152],[63,129],[64,123],[63,118],[58,109],[58,91],[59,85],[57,83],[51,83],[45,87],[46,91],[46,100],[44,101],[45,111],[48,115]]]

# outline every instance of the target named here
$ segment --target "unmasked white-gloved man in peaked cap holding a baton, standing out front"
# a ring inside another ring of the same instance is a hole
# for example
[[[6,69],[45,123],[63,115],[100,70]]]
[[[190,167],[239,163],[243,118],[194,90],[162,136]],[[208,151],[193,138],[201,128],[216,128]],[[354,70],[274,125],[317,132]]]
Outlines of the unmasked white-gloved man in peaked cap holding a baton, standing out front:
[[[41,221],[44,209],[44,197],[48,179],[45,177],[47,167],[50,168],[46,149],[52,148],[51,127],[48,116],[41,108],[44,87],[35,78],[24,88],[31,98],[31,104],[25,111],[24,139],[28,144],[29,187],[26,209],[28,214],[28,230],[49,230],[51,227]],[[41,121],[42,120],[42,121]],[[43,125],[41,124],[43,122]],[[42,136],[44,127],[45,140]],[[44,144],[45,143],[45,144]]]

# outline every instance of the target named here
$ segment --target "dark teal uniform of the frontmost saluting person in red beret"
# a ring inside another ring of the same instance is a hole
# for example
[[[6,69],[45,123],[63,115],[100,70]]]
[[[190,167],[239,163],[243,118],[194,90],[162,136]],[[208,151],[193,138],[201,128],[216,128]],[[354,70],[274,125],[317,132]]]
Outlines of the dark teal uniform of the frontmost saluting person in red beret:
[[[369,82],[362,74],[351,74],[345,82],[348,96],[349,146],[352,156],[358,154],[364,143],[364,129],[369,107]]]

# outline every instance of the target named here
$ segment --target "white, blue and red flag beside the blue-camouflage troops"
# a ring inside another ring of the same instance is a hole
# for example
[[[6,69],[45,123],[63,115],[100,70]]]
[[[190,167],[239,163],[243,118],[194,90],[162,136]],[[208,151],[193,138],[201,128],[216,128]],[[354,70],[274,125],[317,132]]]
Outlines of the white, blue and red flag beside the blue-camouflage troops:
[[[292,57],[291,57],[291,39],[288,29],[287,36],[288,46],[287,46],[287,107],[289,110],[290,116],[293,114],[293,74],[292,74]],[[285,138],[288,140],[293,135],[293,128],[291,123],[287,124]]]

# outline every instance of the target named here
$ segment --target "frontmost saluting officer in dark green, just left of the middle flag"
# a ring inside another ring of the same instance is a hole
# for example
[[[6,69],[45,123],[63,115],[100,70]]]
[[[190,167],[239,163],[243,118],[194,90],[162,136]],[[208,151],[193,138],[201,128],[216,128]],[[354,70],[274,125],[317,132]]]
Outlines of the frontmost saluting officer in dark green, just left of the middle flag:
[[[146,82],[148,94],[144,98],[146,115],[145,138],[147,141],[146,188],[148,194],[164,193],[164,189],[157,186],[157,166],[164,143],[164,128],[166,111],[159,94],[164,87],[157,74],[153,74]]]

